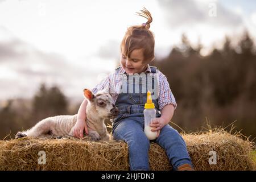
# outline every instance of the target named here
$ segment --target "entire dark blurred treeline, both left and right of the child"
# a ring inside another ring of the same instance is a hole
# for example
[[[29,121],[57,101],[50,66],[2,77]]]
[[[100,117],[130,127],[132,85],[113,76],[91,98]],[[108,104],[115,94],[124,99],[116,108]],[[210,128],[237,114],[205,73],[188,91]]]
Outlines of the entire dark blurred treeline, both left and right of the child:
[[[222,49],[208,56],[201,56],[203,47],[192,47],[185,35],[181,40],[169,56],[154,61],[176,98],[172,122],[189,132],[201,130],[207,119],[212,126],[236,121],[236,130],[256,137],[256,53],[249,34],[245,32],[236,46],[226,38]],[[0,138],[10,132],[14,137],[46,117],[76,114],[80,104],[71,107],[57,86],[42,84],[32,100],[9,100],[0,108]]]

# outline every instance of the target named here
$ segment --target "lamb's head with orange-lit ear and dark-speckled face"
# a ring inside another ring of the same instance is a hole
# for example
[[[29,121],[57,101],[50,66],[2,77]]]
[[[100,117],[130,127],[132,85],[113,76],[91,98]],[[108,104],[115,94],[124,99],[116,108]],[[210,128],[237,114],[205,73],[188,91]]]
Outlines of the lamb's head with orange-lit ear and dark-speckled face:
[[[97,114],[99,118],[117,117],[119,111],[109,93],[100,91],[93,94],[90,90],[84,89],[84,96],[89,101],[89,110]]]

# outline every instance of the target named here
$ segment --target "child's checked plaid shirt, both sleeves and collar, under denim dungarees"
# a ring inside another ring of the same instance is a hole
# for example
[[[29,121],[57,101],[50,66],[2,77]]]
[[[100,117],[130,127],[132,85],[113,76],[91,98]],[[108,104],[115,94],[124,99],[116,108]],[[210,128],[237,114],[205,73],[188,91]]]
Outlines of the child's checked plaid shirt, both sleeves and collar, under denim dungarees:
[[[120,93],[120,88],[122,85],[123,73],[125,73],[125,69],[123,69],[123,67],[120,67],[120,69],[115,69],[113,73],[110,73],[108,77],[96,85],[95,88],[92,89],[92,92],[96,94],[100,90],[112,88],[114,92],[110,92],[110,94],[112,95],[114,102],[117,101],[118,93]],[[151,73],[150,65],[147,65],[146,73]],[[166,76],[164,76],[163,73],[158,69],[156,74],[158,74],[159,78],[158,105],[160,111],[162,111],[164,106],[169,104],[174,105],[174,109],[176,109],[177,104],[174,95],[171,92]]]

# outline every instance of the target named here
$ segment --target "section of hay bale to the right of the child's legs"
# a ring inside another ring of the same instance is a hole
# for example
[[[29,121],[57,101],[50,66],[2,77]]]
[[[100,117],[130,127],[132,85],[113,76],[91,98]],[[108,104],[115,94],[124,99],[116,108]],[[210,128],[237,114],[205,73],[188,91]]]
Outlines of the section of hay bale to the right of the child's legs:
[[[240,133],[232,135],[225,131],[204,134],[185,134],[183,138],[188,146],[189,155],[196,170],[243,171],[255,169],[251,158],[254,142]],[[246,140],[243,140],[246,139]],[[216,151],[217,164],[209,164],[209,152]]]

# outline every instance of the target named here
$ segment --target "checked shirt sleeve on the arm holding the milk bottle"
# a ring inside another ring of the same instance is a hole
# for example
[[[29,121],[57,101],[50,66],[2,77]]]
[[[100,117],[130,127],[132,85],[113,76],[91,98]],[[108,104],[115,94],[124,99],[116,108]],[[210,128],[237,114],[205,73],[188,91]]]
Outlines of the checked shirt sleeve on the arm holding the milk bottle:
[[[163,75],[163,73],[159,71],[159,109],[162,110],[164,106],[170,104],[174,105],[174,109],[176,109],[177,104],[174,98],[174,94],[172,94],[172,91],[170,89],[167,78]]]

